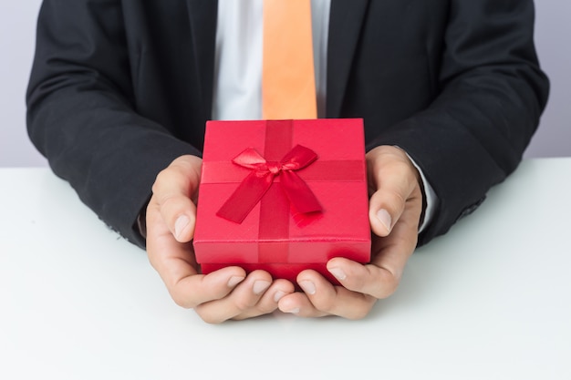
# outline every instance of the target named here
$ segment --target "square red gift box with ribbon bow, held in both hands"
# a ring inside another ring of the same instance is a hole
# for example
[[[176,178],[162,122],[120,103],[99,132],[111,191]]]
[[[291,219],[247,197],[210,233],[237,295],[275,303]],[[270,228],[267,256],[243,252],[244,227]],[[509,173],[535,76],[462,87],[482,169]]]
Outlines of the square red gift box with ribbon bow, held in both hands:
[[[295,283],[327,261],[369,262],[361,119],[209,121],[194,252],[202,273],[237,265]]]

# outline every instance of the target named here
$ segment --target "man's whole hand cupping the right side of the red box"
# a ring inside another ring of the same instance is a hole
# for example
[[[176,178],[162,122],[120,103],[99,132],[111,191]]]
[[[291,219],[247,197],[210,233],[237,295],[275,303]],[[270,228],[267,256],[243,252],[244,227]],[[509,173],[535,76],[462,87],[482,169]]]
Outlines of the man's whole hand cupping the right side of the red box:
[[[420,175],[399,148],[380,146],[367,154],[369,221],[374,233],[371,262],[361,264],[344,258],[327,262],[343,286],[328,282],[315,271],[297,276],[304,292],[285,295],[278,307],[304,317],[338,315],[365,317],[377,300],[394,293],[406,262],[414,252],[422,211]]]

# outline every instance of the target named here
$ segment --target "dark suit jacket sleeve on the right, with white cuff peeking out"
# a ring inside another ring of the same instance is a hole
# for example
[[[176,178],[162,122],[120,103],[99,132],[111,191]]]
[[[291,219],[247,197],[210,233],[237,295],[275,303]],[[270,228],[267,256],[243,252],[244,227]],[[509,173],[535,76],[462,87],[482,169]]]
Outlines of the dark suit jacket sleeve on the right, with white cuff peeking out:
[[[450,4],[439,96],[369,146],[405,149],[435,190],[439,208],[421,244],[475,210],[514,171],[548,94],[535,55],[531,0]]]

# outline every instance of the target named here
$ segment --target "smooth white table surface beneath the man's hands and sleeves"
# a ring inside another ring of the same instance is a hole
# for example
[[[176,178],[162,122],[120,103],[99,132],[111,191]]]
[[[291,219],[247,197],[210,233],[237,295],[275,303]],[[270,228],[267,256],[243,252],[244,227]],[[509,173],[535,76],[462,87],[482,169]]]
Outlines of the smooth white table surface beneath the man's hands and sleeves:
[[[211,325],[66,182],[0,169],[0,378],[571,379],[570,188],[525,160],[365,320]]]

